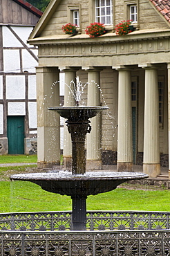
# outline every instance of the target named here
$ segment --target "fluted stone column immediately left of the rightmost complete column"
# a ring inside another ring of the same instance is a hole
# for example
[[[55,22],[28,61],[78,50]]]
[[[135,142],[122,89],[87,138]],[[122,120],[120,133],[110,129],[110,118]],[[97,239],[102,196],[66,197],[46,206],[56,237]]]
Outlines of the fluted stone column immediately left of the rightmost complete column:
[[[124,66],[115,67],[118,75],[118,129],[117,129],[117,172],[132,172],[132,108],[131,71]]]

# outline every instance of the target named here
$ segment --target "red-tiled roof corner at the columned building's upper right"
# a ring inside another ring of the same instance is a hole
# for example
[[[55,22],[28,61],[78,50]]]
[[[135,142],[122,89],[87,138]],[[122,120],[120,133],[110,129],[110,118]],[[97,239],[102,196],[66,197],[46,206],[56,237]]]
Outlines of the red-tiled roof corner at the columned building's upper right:
[[[155,8],[170,23],[170,0],[150,0]]]

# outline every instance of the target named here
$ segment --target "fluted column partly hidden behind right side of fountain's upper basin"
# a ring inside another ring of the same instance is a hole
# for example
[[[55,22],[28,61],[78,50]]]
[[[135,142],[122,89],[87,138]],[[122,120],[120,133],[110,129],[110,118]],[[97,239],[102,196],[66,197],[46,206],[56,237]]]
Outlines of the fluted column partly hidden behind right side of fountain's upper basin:
[[[88,67],[88,106],[100,106],[100,71],[101,69]],[[101,114],[91,119],[91,134],[87,134],[86,143],[86,170],[102,169],[102,124]]]

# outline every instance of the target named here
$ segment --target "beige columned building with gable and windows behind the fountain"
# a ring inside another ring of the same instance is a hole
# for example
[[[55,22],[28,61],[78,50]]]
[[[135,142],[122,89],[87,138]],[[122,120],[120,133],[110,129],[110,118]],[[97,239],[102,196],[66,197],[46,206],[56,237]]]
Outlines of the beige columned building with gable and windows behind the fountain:
[[[115,25],[129,19],[133,32],[117,36]],[[105,24],[106,33],[90,38],[85,29],[95,21]],[[62,31],[68,22],[78,25],[76,35]],[[117,170],[122,171],[138,164],[155,177],[160,165],[168,167],[169,1],[51,0],[28,42],[39,48],[39,165],[59,163],[59,116],[47,108],[59,105],[59,84],[54,82],[64,71],[66,84],[77,76],[82,83],[88,82],[83,95],[86,104],[109,107],[102,118],[91,120],[86,142],[89,169],[117,163]],[[66,86],[64,104],[72,105],[68,95]],[[67,164],[68,134],[65,141]]]

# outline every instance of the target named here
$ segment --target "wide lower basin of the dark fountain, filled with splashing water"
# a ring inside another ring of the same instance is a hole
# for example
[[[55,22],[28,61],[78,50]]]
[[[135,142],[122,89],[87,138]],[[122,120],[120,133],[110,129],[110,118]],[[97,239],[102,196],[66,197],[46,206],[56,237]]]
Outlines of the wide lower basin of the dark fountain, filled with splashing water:
[[[72,197],[108,192],[126,181],[144,178],[148,178],[148,175],[136,172],[86,172],[73,175],[67,171],[15,174],[10,177],[11,180],[31,181],[48,192]]]

